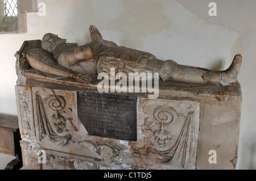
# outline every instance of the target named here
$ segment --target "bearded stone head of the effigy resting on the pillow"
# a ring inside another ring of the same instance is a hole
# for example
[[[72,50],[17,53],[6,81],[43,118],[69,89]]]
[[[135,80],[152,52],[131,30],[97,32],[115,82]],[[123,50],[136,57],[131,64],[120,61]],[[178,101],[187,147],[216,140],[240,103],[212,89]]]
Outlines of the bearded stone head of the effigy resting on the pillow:
[[[42,39],[42,48],[52,53],[53,48],[61,43],[66,43],[66,39],[61,39],[58,35],[47,33]]]

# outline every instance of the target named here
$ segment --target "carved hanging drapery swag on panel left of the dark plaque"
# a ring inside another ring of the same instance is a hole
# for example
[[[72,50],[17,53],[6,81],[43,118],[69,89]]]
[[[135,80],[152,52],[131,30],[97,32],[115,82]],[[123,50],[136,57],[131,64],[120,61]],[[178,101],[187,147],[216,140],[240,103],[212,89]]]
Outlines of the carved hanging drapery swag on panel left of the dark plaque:
[[[38,117],[39,126],[42,129],[42,135],[40,138],[43,137],[43,134],[47,134],[49,140],[58,146],[64,146],[67,144],[67,141],[72,138],[71,134],[67,136],[58,136],[55,132],[53,132],[51,125],[47,119],[46,112],[44,111],[44,106],[42,102],[42,98],[39,95],[36,95],[36,116]]]

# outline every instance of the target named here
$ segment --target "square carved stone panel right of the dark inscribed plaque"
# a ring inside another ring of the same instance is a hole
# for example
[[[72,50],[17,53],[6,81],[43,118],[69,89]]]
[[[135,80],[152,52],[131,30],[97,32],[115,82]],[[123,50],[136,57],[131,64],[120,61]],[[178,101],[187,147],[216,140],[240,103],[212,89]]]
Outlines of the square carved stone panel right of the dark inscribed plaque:
[[[200,104],[192,100],[139,98],[138,141],[132,167],[196,169]]]

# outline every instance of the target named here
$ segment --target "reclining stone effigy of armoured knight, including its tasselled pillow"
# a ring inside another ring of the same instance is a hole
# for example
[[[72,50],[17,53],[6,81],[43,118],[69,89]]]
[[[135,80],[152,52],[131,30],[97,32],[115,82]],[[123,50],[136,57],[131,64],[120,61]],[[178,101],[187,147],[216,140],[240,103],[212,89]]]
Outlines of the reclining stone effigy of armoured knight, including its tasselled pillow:
[[[102,38],[94,26],[89,27],[91,42],[78,46],[77,43],[66,43],[57,35],[47,33],[42,39],[42,48],[23,52],[20,69],[30,66],[44,73],[60,77],[72,77],[76,81],[88,83],[88,73],[107,73],[111,69],[115,74],[124,73],[159,73],[163,81],[190,83],[214,83],[221,86],[236,85],[241,67],[242,56],[237,54],[232,64],[224,71],[209,70],[193,66],[179,65],[175,61],[162,61],[154,55],[141,50],[118,46]]]

